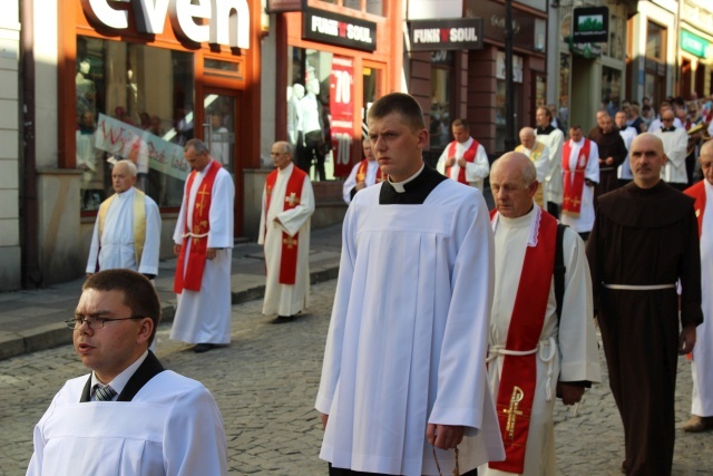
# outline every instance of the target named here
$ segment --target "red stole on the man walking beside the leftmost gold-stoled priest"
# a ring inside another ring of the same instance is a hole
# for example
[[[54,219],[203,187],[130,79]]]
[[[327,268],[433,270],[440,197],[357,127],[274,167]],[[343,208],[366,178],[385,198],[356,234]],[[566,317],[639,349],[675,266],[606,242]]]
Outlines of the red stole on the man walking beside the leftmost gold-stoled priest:
[[[203,282],[203,272],[205,271],[205,255],[208,250],[208,232],[211,231],[211,201],[213,198],[213,184],[215,177],[222,165],[217,161],[212,161],[208,165],[208,172],[206,172],[203,182],[198,186],[196,193],[196,202],[193,206],[193,230],[188,230],[188,201],[191,198],[191,188],[193,181],[198,172],[193,171],[188,175],[188,184],[186,186],[186,202],[185,202],[185,232],[183,235],[183,245],[180,246],[180,254],[178,254],[178,262],[176,263],[176,279],[174,280],[174,292],[180,294],[184,289],[189,291],[201,291],[201,283]],[[185,253],[188,246],[188,239],[193,240],[191,244],[191,251],[188,252],[188,263],[185,264]]]

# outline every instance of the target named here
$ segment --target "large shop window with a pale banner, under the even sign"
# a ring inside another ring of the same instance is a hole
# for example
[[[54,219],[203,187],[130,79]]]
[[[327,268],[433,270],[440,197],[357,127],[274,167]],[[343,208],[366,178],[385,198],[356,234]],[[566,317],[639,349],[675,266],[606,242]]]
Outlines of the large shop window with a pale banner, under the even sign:
[[[113,193],[111,165],[130,159],[136,187],[159,206],[180,206],[194,135],[193,54],[77,38],[77,167],[81,210]]]

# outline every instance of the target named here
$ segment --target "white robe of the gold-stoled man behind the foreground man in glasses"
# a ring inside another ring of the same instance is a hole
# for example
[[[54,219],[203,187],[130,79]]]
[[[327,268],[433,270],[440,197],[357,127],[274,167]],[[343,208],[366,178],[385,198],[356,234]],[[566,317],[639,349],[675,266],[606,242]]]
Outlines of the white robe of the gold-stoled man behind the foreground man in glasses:
[[[128,269],[144,274],[158,274],[158,255],[160,246],[160,213],[156,202],[145,195],[146,203],[146,241],[141,253],[141,262],[136,265],[134,249],[134,193],[131,187],[117,194],[109,205],[99,246],[99,216],[94,225],[91,246],[87,260],[87,273],[96,273],[97,254],[99,270]]]

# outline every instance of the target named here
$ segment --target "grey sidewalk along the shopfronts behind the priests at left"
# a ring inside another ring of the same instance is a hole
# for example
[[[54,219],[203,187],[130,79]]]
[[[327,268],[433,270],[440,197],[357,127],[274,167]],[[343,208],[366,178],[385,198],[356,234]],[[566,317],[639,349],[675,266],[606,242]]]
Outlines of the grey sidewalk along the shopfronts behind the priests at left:
[[[312,231],[312,283],[336,278],[341,244],[341,224]],[[233,304],[264,297],[264,263],[263,249],[256,243],[238,244],[233,249]],[[162,322],[170,322],[176,311],[173,293],[176,259],[162,261],[158,268],[156,290],[163,304]],[[71,331],[62,321],[74,315],[84,281],[79,278],[39,290],[0,293],[0,360],[71,343]]]

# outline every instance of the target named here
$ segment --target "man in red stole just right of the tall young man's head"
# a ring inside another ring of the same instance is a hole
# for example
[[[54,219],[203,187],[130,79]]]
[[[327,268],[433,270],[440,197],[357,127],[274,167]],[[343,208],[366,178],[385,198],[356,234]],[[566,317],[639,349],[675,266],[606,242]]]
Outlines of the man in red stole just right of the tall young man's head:
[[[470,137],[468,120],[453,120],[451,130],[456,140],[443,149],[436,168],[447,177],[482,192],[482,182],[490,171],[485,147]]]

